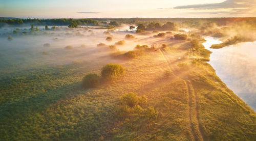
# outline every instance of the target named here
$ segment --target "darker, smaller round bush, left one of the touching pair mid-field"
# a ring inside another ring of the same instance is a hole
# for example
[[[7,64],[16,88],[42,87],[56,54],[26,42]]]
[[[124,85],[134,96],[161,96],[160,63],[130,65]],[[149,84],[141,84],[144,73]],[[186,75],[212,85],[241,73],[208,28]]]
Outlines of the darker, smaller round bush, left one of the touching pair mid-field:
[[[100,77],[95,73],[89,73],[82,79],[82,85],[86,88],[95,88],[100,84]]]

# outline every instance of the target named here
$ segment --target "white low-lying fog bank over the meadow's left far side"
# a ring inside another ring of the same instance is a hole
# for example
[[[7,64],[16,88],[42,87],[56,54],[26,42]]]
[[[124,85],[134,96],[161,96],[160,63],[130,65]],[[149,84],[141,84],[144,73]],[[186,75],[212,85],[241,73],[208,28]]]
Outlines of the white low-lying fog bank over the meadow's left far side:
[[[132,50],[137,44],[151,46],[156,39],[151,35],[135,35],[125,25],[119,29],[108,30],[97,26],[83,26],[69,29],[67,26],[56,26],[56,30],[45,30],[44,26],[34,26],[34,33],[30,34],[30,27],[9,27],[0,29],[0,72],[26,70],[40,65],[68,65],[74,62],[93,62],[95,59],[109,55],[109,50],[97,47],[97,44],[115,45],[124,40],[123,45],[116,45],[120,51]],[[48,27],[49,29],[52,26]],[[17,33],[13,33],[17,31]],[[134,39],[125,39],[131,34]],[[8,40],[11,36],[11,40]],[[112,41],[106,41],[111,37]],[[48,44],[47,44],[48,43]],[[110,63],[111,61],[109,61]]]

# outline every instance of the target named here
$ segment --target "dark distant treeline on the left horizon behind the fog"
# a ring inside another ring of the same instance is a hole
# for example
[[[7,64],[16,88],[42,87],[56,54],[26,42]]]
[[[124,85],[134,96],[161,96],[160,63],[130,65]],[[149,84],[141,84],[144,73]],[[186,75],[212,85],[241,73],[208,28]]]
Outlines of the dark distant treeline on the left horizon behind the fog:
[[[60,18],[60,19],[0,19],[0,27],[5,24],[9,25],[22,25],[22,24],[34,24],[34,25],[70,25],[71,23],[77,23],[78,25],[98,25],[100,22],[94,19],[72,19],[72,18]]]

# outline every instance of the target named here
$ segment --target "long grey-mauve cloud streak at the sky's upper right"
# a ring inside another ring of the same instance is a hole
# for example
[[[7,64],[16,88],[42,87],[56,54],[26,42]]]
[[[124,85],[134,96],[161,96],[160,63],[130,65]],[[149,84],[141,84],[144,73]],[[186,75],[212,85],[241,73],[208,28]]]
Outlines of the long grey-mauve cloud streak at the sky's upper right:
[[[222,3],[215,4],[201,4],[201,5],[186,5],[186,6],[177,6],[174,9],[226,9],[226,8],[248,8],[255,5],[254,0],[227,0]]]

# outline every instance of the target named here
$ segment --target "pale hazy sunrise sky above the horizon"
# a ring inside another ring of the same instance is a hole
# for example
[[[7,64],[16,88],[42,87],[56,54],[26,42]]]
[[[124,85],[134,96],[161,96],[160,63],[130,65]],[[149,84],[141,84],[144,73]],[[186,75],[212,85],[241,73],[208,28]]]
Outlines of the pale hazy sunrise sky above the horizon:
[[[255,17],[256,0],[0,0],[0,17]]]

